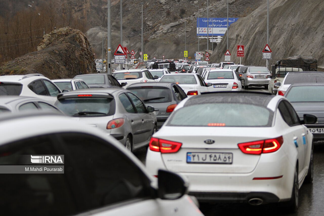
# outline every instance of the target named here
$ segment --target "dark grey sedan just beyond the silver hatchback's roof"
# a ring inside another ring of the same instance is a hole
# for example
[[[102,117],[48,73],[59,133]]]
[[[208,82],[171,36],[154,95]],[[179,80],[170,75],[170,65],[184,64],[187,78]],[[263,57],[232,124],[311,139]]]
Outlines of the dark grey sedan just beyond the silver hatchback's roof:
[[[90,88],[121,88],[125,86],[125,83],[119,83],[110,74],[82,74],[76,75],[74,79],[83,79]]]

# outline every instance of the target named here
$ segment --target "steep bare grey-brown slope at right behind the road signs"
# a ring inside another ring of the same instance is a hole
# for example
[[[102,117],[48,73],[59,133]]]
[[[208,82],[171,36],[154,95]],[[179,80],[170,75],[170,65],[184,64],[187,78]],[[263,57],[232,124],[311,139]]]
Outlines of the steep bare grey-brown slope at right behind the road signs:
[[[231,60],[239,63],[236,45],[245,45],[245,65],[266,65],[262,50],[267,41],[267,4],[250,15],[240,18],[229,28]],[[304,55],[318,59],[324,65],[324,1],[273,0],[269,12],[269,46],[272,49],[270,65],[288,56]],[[211,57],[212,62],[224,60],[226,36]]]

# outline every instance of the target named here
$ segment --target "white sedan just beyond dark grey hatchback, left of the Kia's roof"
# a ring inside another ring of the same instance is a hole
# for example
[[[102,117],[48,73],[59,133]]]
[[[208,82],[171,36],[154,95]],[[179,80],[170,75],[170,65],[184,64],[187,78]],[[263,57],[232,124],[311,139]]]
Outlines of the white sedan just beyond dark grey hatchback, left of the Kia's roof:
[[[200,95],[209,92],[208,86],[199,74],[164,74],[159,82],[169,82],[178,84],[187,96]]]

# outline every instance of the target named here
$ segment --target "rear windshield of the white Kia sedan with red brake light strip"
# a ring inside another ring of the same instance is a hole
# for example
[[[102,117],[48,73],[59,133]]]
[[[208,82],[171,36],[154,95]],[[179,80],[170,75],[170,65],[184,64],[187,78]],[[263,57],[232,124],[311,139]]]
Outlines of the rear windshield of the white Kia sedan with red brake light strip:
[[[253,116],[258,118],[251,118],[250,115],[242,113],[253,113]],[[257,105],[202,103],[180,108],[173,113],[167,126],[271,127],[272,117],[271,110]]]

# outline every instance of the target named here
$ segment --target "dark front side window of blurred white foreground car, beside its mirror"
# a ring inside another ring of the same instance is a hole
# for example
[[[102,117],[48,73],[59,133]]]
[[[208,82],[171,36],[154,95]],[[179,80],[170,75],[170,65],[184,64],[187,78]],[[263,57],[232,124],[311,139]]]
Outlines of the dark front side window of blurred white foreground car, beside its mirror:
[[[79,179],[73,181],[75,188],[83,190],[87,210],[151,197],[147,176],[115,146],[82,133],[62,133],[60,137],[77,166],[72,170]],[[65,170],[68,172],[68,167]]]

